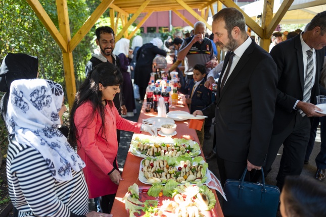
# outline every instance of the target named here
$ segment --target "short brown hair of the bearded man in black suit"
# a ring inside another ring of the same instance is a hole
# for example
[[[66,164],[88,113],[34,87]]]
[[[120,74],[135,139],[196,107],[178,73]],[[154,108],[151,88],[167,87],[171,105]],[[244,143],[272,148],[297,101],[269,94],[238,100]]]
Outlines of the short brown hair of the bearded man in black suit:
[[[247,34],[246,19],[239,10],[235,8],[224,8],[213,16],[213,22],[216,22],[220,19],[224,20],[224,28],[227,30],[228,35],[231,35],[232,29],[236,26],[239,27],[240,31],[243,34]]]

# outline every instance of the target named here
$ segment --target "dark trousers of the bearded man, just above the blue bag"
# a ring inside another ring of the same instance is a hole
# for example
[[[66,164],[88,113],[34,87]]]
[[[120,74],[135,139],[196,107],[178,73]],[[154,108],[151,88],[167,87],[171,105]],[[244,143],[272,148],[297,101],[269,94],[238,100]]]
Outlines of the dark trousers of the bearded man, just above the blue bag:
[[[224,186],[227,179],[240,179],[244,173],[245,168],[247,167],[247,160],[243,162],[232,162],[225,159],[222,159],[217,156],[217,167],[219,175],[221,178],[221,185]],[[250,181],[251,177],[255,175],[256,171],[252,171],[246,174],[245,180]]]

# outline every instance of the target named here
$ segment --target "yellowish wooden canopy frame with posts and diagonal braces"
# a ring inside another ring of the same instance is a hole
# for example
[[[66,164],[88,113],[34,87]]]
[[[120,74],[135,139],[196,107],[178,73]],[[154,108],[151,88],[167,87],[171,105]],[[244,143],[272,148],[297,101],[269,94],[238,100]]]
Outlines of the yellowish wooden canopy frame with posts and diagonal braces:
[[[116,41],[119,40],[122,36],[130,39],[137,31],[137,29],[139,29],[145,23],[145,21],[151,16],[153,12],[171,10],[190,26],[193,26],[193,24],[187,18],[178,12],[178,10],[187,10],[197,20],[204,22],[207,28],[211,30],[211,26],[206,21],[209,10],[212,14],[215,14],[213,9],[214,3],[217,2],[218,11],[222,9],[222,4],[226,7],[233,7],[242,11],[234,2],[232,2],[232,0],[102,0],[96,10],[88,17],[88,19],[84,22],[76,34],[71,38],[67,0],[56,0],[59,30],[54,25],[53,21],[50,19],[49,15],[45,12],[38,0],[26,1],[62,50],[67,98],[70,107],[73,104],[76,94],[72,51],[108,8],[111,9],[111,24],[114,23],[114,12],[117,12],[116,19],[121,19],[123,26],[123,29],[116,35]],[[269,48],[270,36],[273,30],[282,20],[293,1],[294,0],[284,0],[280,9],[273,17],[274,0],[264,0],[264,11],[261,18],[262,27],[260,27],[252,18],[250,18],[242,11],[246,18],[247,26],[249,26],[251,30],[254,31],[262,39],[260,40],[260,45],[265,50],[268,50]],[[198,9],[201,12],[201,15],[197,14],[194,9]],[[141,13],[147,13],[147,15],[142,19],[141,22],[138,23],[134,31],[128,35],[128,27]],[[130,14],[132,14],[132,17],[130,17]],[[116,22],[114,26],[111,26],[116,33],[117,23],[118,22]]]

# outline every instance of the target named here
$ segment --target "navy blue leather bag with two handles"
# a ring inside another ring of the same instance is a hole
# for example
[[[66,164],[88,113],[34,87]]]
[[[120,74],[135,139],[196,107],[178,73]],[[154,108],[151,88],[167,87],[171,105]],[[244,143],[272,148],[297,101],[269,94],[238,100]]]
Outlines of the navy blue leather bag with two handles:
[[[224,193],[227,201],[223,201],[223,214],[230,217],[275,217],[280,201],[280,189],[265,185],[262,168],[262,184],[245,182],[246,173],[247,168],[240,180],[226,180]]]

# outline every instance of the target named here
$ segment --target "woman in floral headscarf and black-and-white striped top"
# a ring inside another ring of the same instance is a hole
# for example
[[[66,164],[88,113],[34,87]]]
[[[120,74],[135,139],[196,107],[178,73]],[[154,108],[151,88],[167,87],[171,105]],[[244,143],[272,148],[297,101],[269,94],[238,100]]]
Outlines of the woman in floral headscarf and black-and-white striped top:
[[[62,102],[63,89],[53,81],[11,84],[7,178],[15,216],[112,216],[88,213],[85,163],[58,130]]]

